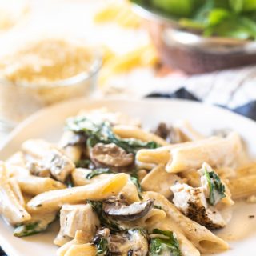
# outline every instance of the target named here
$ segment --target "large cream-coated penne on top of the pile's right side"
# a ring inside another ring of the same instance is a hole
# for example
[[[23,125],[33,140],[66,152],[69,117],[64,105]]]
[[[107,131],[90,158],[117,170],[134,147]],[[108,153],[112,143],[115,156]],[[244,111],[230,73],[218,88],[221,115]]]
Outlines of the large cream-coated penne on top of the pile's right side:
[[[245,161],[242,158],[242,142],[236,133],[230,134],[227,138],[212,137],[190,142],[170,150],[170,154],[166,171],[172,173],[198,169],[203,162],[208,162],[210,166],[237,167]]]

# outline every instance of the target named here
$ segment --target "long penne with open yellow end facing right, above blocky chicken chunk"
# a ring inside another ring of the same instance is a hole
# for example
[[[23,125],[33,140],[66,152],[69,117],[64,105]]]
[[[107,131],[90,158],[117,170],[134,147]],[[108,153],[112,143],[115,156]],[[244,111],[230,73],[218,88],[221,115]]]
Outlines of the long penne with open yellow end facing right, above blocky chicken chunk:
[[[101,182],[64,190],[48,191],[32,198],[27,207],[32,212],[53,211],[58,210],[63,204],[75,204],[84,202],[86,199],[102,200],[109,198],[122,190],[128,177],[127,174],[115,174]]]

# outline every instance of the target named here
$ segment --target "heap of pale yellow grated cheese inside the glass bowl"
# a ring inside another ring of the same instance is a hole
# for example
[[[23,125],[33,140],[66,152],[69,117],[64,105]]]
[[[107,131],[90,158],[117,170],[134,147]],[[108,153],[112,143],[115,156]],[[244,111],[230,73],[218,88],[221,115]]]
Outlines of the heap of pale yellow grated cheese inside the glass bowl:
[[[92,62],[92,52],[80,42],[43,39],[2,58],[0,77],[15,84],[47,85],[87,72]]]

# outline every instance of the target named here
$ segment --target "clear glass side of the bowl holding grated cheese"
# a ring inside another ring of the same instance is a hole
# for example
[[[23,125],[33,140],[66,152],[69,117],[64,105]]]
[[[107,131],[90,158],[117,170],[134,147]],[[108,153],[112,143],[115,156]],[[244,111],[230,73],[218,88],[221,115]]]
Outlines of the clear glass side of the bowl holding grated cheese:
[[[0,122],[12,129],[35,111],[70,98],[89,96],[96,86],[102,56],[95,51],[89,70],[71,78],[44,84],[14,83],[0,78]]]

